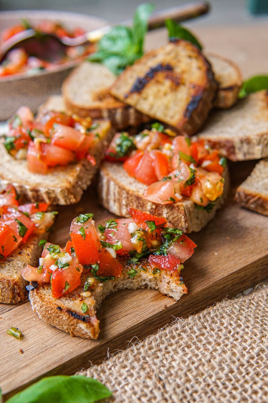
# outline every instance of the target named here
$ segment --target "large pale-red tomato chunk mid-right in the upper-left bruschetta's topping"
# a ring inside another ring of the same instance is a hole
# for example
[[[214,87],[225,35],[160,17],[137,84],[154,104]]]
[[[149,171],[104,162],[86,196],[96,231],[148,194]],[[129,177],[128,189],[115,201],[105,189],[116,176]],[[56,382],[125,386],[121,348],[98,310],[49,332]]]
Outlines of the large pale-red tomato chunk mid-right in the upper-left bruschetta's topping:
[[[69,126],[57,124],[55,129],[53,128],[51,144],[74,151],[81,145],[85,138],[86,135],[80,131]]]

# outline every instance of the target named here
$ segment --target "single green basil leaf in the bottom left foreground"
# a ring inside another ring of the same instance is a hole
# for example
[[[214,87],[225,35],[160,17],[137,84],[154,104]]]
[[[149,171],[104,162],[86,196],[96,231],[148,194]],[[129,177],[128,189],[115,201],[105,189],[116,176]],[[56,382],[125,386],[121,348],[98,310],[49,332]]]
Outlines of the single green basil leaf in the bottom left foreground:
[[[7,403],[94,403],[112,392],[96,379],[83,375],[48,376],[10,397]]]

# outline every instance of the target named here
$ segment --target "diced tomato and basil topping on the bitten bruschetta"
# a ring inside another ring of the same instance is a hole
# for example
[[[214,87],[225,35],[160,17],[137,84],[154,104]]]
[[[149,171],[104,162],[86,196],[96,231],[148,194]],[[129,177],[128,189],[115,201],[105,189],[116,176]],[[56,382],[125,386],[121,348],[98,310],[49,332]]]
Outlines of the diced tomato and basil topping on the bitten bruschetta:
[[[120,277],[123,272],[134,278],[140,272],[157,275],[166,270],[178,277],[196,244],[173,228],[164,217],[128,208],[130,218],[112,218],[96,231],[93,214],[80,214],[70,226],[71,241],[65,250],[45,240],[39,266],[26,266],[25,280],[51,283],[53,297],[62,297],[81,283],[82,272],[88,273],[83,297],[90,296],[96,285]],[[85,312],[86,308],[84,307]]]

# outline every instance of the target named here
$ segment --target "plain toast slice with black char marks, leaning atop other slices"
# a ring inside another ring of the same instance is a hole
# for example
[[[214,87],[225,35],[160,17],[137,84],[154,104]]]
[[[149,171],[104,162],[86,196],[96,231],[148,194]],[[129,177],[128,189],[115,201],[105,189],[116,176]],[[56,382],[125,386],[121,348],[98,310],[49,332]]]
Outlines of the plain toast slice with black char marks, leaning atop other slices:
[[[205,56],[190,42],[176,40],[127,67],[110,93],[178,133],[192,135],[207,118],[216,90]]]

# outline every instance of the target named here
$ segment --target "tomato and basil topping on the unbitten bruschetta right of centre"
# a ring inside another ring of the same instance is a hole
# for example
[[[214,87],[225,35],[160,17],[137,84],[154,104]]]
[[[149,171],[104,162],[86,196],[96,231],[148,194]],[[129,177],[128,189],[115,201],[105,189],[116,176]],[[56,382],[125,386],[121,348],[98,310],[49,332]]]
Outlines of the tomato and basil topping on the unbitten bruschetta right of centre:
[[[143,196],[153,203],[172,204],[189,197],[196,208],[210,212],[223,194],[226,159],[204,141],[176,136],[160,123],[136,136],[117,133],[106,159],[123,162],[129,176],[147,185]]]

